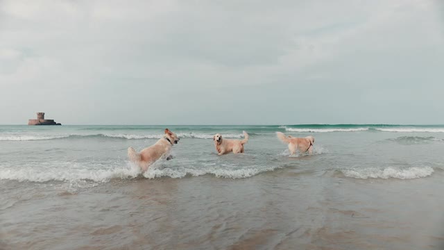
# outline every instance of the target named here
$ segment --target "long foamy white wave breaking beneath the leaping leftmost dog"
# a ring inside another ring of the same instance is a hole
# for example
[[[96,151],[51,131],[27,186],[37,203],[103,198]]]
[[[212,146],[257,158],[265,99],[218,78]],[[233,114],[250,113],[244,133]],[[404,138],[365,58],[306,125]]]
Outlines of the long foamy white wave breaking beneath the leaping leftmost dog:
[[[157,165],[161,164],[157,163]],[[106,167],[106,165],[87,163],[52,163],[51,166],[41,167],[31,165],[15,168],[12,166],[6,167],[0,169],[0,180],[32,181],[36,183],[47,181],[64,181],[68,183],[94,181],[96,183],[107,183],[116,178],[137,178],[141,174],[145,178],[183,178],[185,176],[203,176],[206,174],[214,175],[217,178],[248,178],[262,172],[269,172],[280,168],[250,166],[227,169],[225,167],[212,164],[198,169],[189,167],[157,168],[155,165],[152,165],[147,172],[142,174],[139,167],[132,163],[127,163],[126,165],[123,163],[120,167]]]

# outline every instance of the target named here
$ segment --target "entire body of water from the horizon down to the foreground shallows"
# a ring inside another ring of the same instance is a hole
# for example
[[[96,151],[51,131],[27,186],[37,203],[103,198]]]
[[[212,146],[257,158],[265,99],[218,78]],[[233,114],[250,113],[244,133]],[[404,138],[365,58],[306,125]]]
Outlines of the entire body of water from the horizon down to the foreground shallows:
[[[164,128],[142,174],[126,150]],[[0,249],[444,249],[444,126],[0,126],[0,149]]]

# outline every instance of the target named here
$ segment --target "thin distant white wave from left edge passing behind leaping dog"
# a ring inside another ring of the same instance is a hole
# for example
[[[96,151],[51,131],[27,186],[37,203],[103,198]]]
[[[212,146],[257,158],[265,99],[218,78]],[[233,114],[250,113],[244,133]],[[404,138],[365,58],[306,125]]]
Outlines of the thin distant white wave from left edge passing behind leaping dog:
[[[179,138],[212,139],[213,135],[203,133],[177,133]],[[249,135],[253,135],[250,133]],[[225,138],[244,138],[243,134],[223,134]],[[136,134],[109,134],[100,133],[94,135],[0,135],[0,141],[32,141],[32,140],[56,140],[67,138],[121,138],[127,140],[160,139],[163,135],[136,135]]]

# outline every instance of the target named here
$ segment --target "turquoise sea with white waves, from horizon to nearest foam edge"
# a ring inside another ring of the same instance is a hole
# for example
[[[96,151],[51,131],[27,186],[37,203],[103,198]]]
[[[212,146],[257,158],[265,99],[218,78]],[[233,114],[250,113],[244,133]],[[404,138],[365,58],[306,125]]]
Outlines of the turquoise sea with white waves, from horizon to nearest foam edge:
[[[280,126],[0,126],[0,179],[107,182],[135,178],[126,149],[142,150],[168,127],[182,140],[174,160],[156,163],[145,178],[201,176],[246,178],[286,167],[338,172],[349,178],[424,178],[441,171],[444,126],[377,124]],[[215,133],[250,141],[246,153],[216,156]],[[314,135],[314,156],[294,161],[275,132]],[[24,157],[26,156],[26,157]],[[290,159],[290,160],[289,160]]]

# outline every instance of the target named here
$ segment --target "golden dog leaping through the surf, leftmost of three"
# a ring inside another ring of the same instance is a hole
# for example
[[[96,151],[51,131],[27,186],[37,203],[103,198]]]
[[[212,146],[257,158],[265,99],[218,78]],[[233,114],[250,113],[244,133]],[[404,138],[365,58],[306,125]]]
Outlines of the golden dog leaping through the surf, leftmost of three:
[[[163,137],[158,140],[153,146],[147,147],[137,153],[133,147],[128,148],[128,158],[131,162],[136,163],[142,169],[142,172],[146,172],[156,160],[159,160],[162,156],[167,156],[169,151],[173,147],[173,144],[178,144],[180,138],[171,132],[168,128],[165,129]],[[172,156],[167,156],[167,160],[171,160]]]

